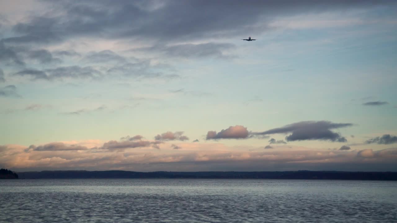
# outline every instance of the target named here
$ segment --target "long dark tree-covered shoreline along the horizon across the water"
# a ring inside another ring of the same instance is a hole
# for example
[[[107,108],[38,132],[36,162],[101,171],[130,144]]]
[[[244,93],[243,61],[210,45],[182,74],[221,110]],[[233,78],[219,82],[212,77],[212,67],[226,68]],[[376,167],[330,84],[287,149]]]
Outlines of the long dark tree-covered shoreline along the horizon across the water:
[[[328,179],[396,181],[397,172],[266,171],[266,172],[133,172],[133,171],[40,171],[20,172],[25,179],[62,178],[207,178],[207,179]]]

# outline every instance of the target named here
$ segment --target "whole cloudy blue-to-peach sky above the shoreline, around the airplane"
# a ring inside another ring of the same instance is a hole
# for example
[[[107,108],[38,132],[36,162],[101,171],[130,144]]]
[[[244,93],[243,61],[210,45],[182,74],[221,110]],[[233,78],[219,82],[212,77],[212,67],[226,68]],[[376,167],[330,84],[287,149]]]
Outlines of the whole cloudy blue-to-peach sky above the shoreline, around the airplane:
[[[0,0],[0,167],[397,171],[396,68],[395,1]]]

